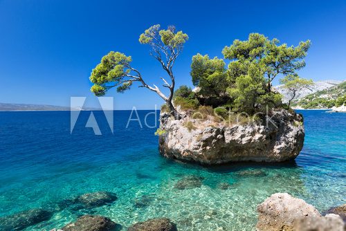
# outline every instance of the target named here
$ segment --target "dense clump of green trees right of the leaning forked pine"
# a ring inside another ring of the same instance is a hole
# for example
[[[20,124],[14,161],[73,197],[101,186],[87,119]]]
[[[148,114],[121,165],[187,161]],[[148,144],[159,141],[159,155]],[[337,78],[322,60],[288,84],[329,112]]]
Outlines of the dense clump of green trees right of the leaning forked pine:
[[[295,76],[305,65],[303,58],[309,46],[309,40],[294,47],[252,33],[248,40],[236,39],[222,50],[225,59],[230,59],[227,69],[223,59],[194,55],[190,73],[192,83],[199,87],[201,98],[226,98],[211,104],[213,107],[228,104],[233,111],[246,113],[264,110],[266,105],[282,107],[282,96],[271,91],[271,82],[277,75]],[[200,99],[199,102],[210,105]]]

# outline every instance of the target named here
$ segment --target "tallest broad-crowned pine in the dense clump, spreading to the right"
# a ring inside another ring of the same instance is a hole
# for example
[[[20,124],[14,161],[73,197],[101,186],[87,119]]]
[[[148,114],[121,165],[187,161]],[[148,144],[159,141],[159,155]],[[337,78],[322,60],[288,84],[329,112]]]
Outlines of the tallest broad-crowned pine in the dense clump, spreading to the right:
[[[251,33],[246,41],[236,39],[231,46],[226,46],[222,53],[226,59],[239,62],[230,64],[229,69],[240,66],[239,71],[230,72],[230,78],[235,80],[242,71],[246,71],[246,66],[255,63],[266,77],[266,91],[271,91],[271,82],[279,75],[295,74],[305,66],[304,57],[307,55],[311,42],[301,41],[298,46],[287,46],[281,44],[278,39],[269,40],[264,35]],[[242,64],[246,64],[245,66]],[[244,73],[243,73],[244,74]]]

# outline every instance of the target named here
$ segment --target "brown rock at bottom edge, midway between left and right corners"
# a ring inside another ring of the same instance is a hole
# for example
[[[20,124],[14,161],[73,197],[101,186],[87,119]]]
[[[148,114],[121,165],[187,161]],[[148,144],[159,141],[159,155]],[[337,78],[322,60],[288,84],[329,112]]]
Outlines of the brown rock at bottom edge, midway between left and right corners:
[[[149,219],[132,225],[127,231],[177,231],[176,225],[167,218]]]

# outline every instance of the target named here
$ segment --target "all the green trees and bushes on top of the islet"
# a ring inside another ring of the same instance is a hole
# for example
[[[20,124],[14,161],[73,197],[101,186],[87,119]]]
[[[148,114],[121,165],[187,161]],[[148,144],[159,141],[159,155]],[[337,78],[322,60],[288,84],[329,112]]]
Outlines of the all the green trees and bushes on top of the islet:
[[[271,89],[277,76],[282,77],[282,84],[291,91],[293,98],[296,91],[311,84],[311,80],[304,80],[297,73],[305,66],[304,57],[311,44],[309,40],[301,41],[298,46],[288,46],[280,44],[278,39],[270,40],[259,33],[251,33],[246,41],[235,39],[233,44],[224,47],[222,54],[224,59],[228,59],[227,66],[224,59],[199,53],[194,55],[190,75],[197,91],[181,86],[174,93],[172,68],[188,41],[188,35],[176,31],[174,26],[160,28],[160,25],[148,28],[140,35],[139,42],[150,46],[150,55],[167,73],[168,81],[163,77],[161,80],[162,86],[169,89],[169,95],[165,95],[155,84],[149,86],[145,82],[140,71],[131,66],[131,56],[114,51],[104,55],[100,64],[93,68],[91,91],[100,96],[116,88],[122,93],[138,82],[140,87],[156,92],[165,100],[172,115],[179,118],[174,104],[181,109],[212,106],[219,108],[218,111],[224,111],[223,107],[248,113],[263,110],[266,106],[282,107],[282,95]]]

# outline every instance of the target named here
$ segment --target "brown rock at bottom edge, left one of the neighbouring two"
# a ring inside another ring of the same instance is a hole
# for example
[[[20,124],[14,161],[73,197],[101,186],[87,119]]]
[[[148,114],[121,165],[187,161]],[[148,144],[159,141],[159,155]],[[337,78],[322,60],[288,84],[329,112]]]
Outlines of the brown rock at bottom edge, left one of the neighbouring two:
[[[84,215],[62,228],[64,231],[110,231],[116,228],[116,223],[105,216]]]

